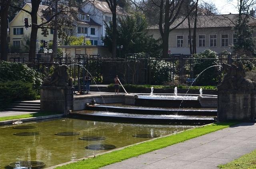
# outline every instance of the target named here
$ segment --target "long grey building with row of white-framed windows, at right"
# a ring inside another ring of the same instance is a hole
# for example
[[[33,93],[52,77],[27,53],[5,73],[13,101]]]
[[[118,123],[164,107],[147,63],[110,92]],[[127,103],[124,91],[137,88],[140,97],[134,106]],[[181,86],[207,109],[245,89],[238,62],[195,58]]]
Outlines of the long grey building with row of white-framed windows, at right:
[[[237,35],[234,32],[234,23],[236,23],[237,17],[238,14],[198,16],[195,44],[197,53],[206,49],[211,49],[216,53],[232,52],[231,47],[237,42]],[[174,28],[182,20],[183,18],[178,18],[170,28]],[[191,37],[193,37],[194,21],[190,20],[190,23],[192,23]],[[250,16],[248,24],[255,29],[256,18]],[[188,28],[188,19],[186,19],[180,26],[170,32],[168,48],[171,53],[190,54]],[[158,25],[150,26],[148,30],[154,38],[161,37]],[[252,37],[256,37],[255,30],[252,32]],[[192,38],[191,40],[193,41]]]

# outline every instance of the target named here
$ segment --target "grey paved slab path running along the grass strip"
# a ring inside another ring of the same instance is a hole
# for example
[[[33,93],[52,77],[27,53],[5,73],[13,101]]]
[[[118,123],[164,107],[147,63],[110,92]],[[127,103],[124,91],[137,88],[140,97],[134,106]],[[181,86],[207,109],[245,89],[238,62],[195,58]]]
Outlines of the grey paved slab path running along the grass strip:
[[[256,124],[241,123],[102,169],[217,169],[256,149]]]

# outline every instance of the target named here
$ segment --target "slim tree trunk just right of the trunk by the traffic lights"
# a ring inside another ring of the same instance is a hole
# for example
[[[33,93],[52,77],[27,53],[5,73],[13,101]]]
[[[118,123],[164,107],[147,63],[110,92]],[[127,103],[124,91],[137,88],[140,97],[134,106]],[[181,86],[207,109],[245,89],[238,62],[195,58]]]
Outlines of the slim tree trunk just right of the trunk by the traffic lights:
[[[58,0],[55,1],[55,13],[58,13]],[[54,33],[53,33],[53,41],[52,41],[52,54],[50,58],[50,62],[52,63],[53,58],[57,57],[58,49],[57,49],[57,35],[58,35],[58,18],[54,17]]]

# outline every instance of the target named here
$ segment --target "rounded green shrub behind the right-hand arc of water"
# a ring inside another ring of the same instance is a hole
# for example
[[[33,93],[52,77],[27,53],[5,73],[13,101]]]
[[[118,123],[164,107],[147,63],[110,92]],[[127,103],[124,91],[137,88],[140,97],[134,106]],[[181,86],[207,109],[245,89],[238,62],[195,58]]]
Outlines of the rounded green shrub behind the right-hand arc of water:
[[[202,53],[197,53],[193,55],[194,58],[198,60],[194,60],[194,75],[198,77],[198,75],[204,71],[204,69],[218,65],[217,59],[208,59],[208,58],[218,58],[217,53],[207,49]],[[202,59],[202,60],[201,60]],[[207,60],[208,59],[208,60]],[[216,85],[218,82],[218,67],[212,67],[207,69],[198,77],[197,85]]]

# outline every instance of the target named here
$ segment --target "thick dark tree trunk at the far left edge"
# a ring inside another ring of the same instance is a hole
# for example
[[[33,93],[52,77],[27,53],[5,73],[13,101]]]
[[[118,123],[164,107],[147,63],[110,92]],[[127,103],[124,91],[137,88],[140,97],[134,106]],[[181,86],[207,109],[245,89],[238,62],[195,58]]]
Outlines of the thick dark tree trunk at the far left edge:
[[[0,46],[1,46],[1,57],[0,59],[3,61],[7,61],[8,55],[8,43],[7,43],[7,15],[8,15],[8,8],[10,6],[10,0],[2,0],[1,5],[1,38],[0,38]]]

